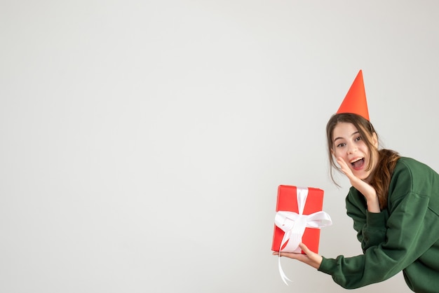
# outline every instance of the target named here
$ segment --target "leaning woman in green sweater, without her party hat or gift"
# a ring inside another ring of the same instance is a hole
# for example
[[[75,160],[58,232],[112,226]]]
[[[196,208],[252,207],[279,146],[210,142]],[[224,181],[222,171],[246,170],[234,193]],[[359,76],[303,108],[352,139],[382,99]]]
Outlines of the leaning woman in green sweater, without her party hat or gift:
[[[305,254],[281,252],[281,257],[318,268],[347,289],[403,271],[412,291],[439,292],[438,173],[395,151],[379,149],[377,132],[364,111],[339,109],[326,130],[331,168],[352,184],[346,210],[363,254],[329,259],[301,243]]]

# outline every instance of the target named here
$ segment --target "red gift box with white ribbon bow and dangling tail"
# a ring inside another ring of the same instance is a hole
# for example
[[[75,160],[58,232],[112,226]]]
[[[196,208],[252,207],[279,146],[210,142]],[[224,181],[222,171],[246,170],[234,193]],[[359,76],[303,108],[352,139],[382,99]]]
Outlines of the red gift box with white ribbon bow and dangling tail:
[[[275,226],[271,250],[280,252],[304,253],[299,243],[318,253],[320,228],[332,224],[323,209],[323,190],[297,186],[278,186]],[[281,268],[283,281],[288,285]]]

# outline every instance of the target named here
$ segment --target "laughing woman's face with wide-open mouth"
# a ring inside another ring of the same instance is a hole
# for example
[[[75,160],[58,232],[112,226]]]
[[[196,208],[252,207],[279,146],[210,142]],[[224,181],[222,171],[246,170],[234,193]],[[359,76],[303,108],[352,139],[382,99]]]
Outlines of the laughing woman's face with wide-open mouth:
[[[374,133],[371,139],[374,147],[378,147],[377,135]],[[367,148],[360,132],[352,123],[340,122],[332,131],[332,155],[342,158],[352,170],[353,175],[364,180],[370,181],[377,162],[372,162],[372,168],[367,169],[370,158],[370,149]]]

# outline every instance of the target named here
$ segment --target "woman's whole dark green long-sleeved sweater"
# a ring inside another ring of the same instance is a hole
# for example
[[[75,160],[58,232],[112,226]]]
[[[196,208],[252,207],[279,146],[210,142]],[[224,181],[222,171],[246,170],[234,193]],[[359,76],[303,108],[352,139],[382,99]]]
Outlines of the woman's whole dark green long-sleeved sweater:
[[[351,187],[346,210],[363,248],[356,257],[326,259],[319,271],[346,289],[363,287],[403,271],[414,292],[439,292],[439,175],[412,158],[400,158],[389,185],[388,207],[367,211]]]

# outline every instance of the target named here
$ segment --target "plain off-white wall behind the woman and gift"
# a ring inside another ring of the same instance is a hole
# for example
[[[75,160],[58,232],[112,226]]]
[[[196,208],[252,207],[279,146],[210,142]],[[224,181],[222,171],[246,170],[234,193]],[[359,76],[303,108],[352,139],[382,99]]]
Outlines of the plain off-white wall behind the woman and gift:
[[[271,255],[279,184],[325,190],[363,69],[385,147],[439,170],[437,1],[0,1],[0,292],[344,292]],[[410,292],[401,274],[357,292]]]

